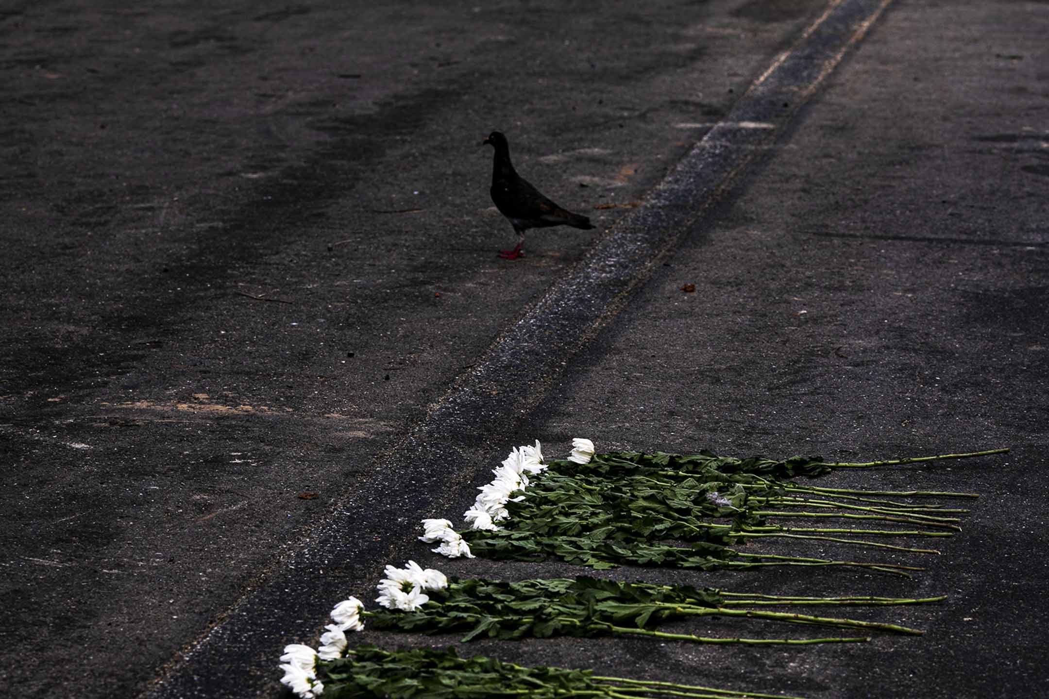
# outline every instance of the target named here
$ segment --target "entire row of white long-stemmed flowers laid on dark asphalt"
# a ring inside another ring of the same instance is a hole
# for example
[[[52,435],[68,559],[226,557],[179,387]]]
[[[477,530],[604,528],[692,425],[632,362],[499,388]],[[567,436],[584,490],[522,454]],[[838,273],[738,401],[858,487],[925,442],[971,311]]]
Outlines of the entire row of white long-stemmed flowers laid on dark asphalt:
[[[423,541],[451,558],[485,555],[511,560],[557,556],[593,568],[624,563],[678,567],[751,568],[767,565],[849,566],[907,575],[914,566],[835,561],[738,550],[764,538],[817,539],[896,552],[938,551],[884,543],[893,537],[949,537],[960,530],[961,508],[940,500],[975,498],[966,493],[852,490],[801,484],[797,477],[840,468],[939,461],[1002,454],[991,450],[865,463],[828,462],[819,457],[736,459],[707,452],[692,456],[616,452],[597,454],[593,442],[575,439],[568,459],[547,462],[541,445],[514,449],[493,471],[465,515],[462,531],[446,519],[423,521]],[[913,504],[914,499],[927,500]],[[792,527],[770,518],[879,521],[884,528]],[[881,541],[871,541],[871,538]],[[865,635],[922,632],[894,624],[817,616],[768,607],[892,606],[945,597],[804,597],[733,593],[684,585],[620,583],[591,576],[499,582],[449,581],[441,571],[409,561],[386,566],[377,586],[378,608],[357,597],[340,602],[318,649],[293,643],[284,649],[281,679],[302,699],[325,697],[485,697],[522,699],[568,697],[771,698],[751,692],[602,677],[590,671],[528,668],[487,657],[461,658],[453,650],[387,651],[351,647],[347,632],[365,622],[377,629],[464,633],[504,639],[554,635],[649,636],[704,643],[811,645],[869,640]],[[743,616],[786,625],[855,630],[861,636],[741,638],[670,633],[661,625],[685,617]]]

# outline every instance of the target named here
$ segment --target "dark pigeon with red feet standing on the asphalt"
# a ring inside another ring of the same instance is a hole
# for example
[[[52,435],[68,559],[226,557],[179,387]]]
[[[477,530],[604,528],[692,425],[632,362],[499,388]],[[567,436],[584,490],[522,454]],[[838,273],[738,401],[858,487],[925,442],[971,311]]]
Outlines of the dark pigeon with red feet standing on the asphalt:
[[[524,257],[524,232],[529,228],[571,225],[588,231],[595,227],[588,218],[558,206],[517,174],[510,162],[510,144],[506,136],[493,131],[480,141],[481,146],[486,144],[495,148],[495,158],[492,160],[492,201],[499,213],[510,219],[514,231],[520,236],[517,247],[499,250],[499,257],[505,260]]]

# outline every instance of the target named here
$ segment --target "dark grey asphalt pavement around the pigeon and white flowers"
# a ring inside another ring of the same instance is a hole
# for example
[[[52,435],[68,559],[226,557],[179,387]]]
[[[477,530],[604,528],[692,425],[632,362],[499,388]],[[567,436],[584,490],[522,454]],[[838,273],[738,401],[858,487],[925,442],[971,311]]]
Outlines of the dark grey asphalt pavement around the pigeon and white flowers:
[[[283,645],[386,563],[577,572],[445,562],[414,526],[510,446],[584,436],[1011,451],[833,477],[982,494],[915,581],[609,573],[948,594],[900,612],[921,638],[468,650],[809,697],[1046,693],[1047,9],[0,13],[0,690],[280,696]],[[599,230],[499,260],[495,128]]]

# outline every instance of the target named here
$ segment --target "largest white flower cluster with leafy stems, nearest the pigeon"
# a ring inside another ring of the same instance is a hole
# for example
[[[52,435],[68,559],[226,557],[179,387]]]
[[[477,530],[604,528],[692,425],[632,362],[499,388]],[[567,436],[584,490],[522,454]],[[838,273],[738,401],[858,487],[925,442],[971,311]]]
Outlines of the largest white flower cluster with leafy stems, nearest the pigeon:
[[[522,453],[528,450],[526,462]],[[917,463],[1002,454],[969,454],[873,461],[828,462],[820,457],[736,459],[706,452],[682,456],[617,452],[596,454],[590,440],[574,440],[572,455],[542,461],[540,445],[511,452],[474,506],[469,528],[426,520],[423,541],[442,542],[445,555],[535,561],[547,556],[593,568],[624,563],[676,567],[847,566],[908,576],[921,567],[747,553],[738,546],[764,538],[817,539],[893,551],[939,551],[870,541],[870,537],[949,537],[968,510],[942,503],[912,504],[901,498],[975,498],[966,493],[864,492],[823,488],[788,480],[840,468]],[[527,463],[527,467],[526,467]],[[529,478],[531,476],[531,478]],[[880,521],[897,528],[793,527],[769,518]],[[906,528],[898,528],[905,525]],[[449,543],[455,542],[450,551]]]

